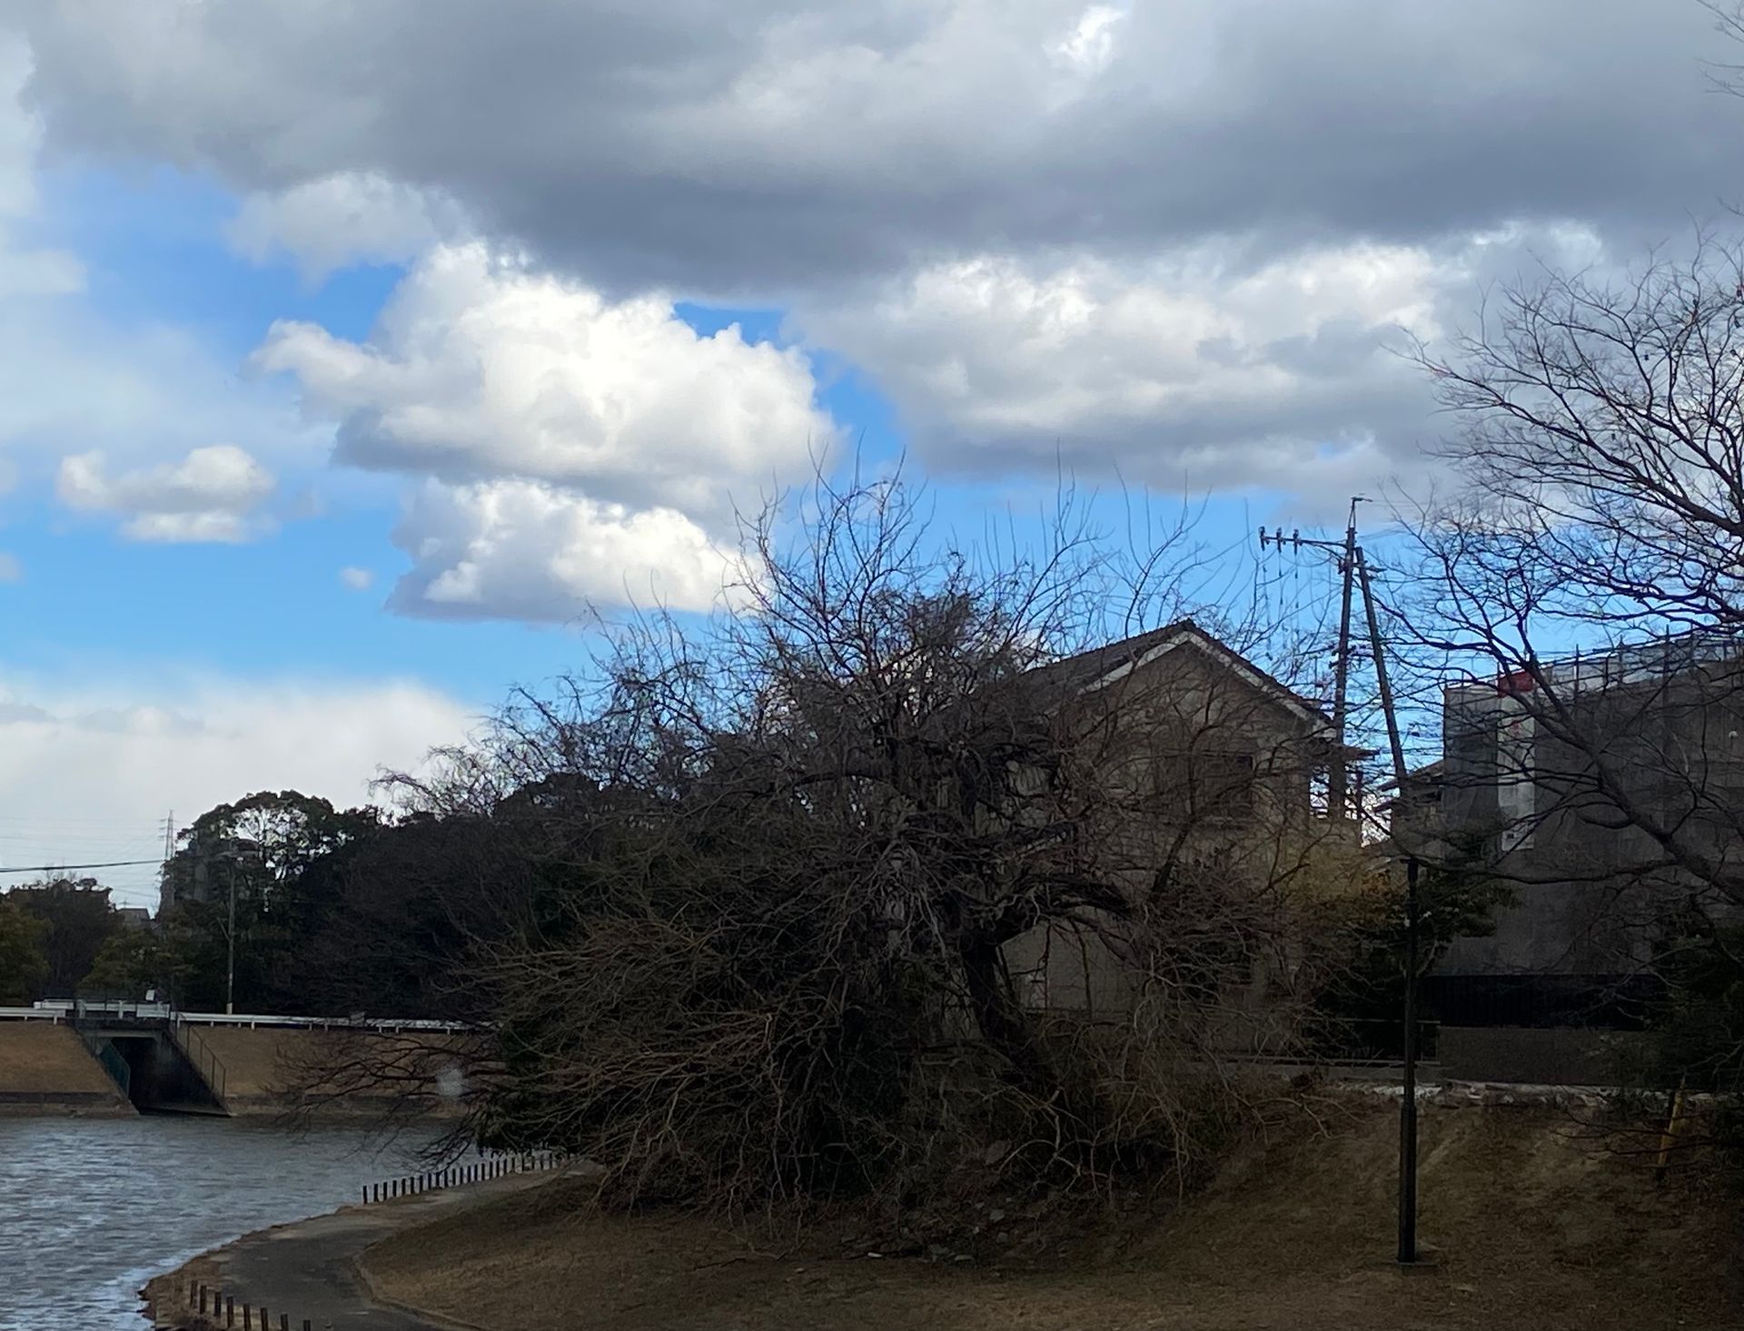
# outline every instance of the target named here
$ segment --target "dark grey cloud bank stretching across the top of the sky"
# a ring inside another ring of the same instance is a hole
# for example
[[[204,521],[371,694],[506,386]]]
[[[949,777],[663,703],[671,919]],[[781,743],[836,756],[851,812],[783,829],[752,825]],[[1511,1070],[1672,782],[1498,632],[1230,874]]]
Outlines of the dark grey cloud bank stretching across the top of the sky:
[[[131,0],[19,7],[58,143],[246,190],[439,188],[628,289],[785,291],[992,235],[1114,256],[1236,228],[1662,233],[1744,167],[1697,3],[530,0],[506,24],[260,0],[171,28]]]

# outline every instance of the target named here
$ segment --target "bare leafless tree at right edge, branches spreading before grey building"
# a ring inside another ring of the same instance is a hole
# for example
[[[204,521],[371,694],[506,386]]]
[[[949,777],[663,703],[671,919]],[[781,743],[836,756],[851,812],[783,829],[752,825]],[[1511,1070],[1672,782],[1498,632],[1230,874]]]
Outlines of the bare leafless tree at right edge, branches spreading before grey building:
[[[1652,997],[1692,951],[1734,956],[1741,319],[1744,254],[1699,237],[1627,279],[1540,274],[1420,352],[1458,422],[1441,446],[1458,484],[1411,516],[1399,627],[1444,711],[1437,826],[1486,833],[1547,922],[1526,969]],[[1735,1084],[1741,1037],[1685,1071]]]

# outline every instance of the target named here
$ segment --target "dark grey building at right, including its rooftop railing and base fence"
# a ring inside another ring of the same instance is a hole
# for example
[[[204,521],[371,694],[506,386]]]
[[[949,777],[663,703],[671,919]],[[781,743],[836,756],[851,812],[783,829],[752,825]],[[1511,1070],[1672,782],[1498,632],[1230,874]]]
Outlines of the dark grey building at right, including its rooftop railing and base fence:
[[[1432,979],[1451,1026],[1631,1026],[1662,948],[1744,901],[1744,652],[1683,634],[1444,693],[1420,836],[1516,901]]]

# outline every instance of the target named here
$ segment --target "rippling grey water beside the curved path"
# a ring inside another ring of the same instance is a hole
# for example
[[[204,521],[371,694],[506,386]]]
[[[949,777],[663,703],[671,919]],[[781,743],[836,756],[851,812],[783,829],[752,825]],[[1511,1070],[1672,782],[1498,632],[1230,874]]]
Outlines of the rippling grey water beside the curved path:
[[[0,1118],[0,1331],[145,1331],[152,1275],[413,1172],[419,1145],[237,1118]]]

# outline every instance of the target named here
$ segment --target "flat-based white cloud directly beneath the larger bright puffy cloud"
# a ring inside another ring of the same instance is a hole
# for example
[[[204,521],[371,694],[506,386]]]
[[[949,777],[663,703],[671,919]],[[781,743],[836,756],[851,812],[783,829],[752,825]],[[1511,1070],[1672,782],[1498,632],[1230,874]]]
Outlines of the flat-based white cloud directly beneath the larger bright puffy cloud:
[[[415,491],[394,542],[412,571],[391,605],[433,618],[586,618],[596,606],[710,610],[736,556],[673,509],[633,512],[535,481]]]

